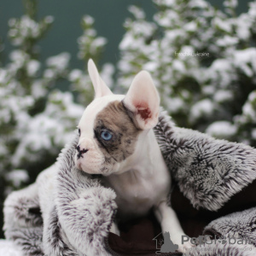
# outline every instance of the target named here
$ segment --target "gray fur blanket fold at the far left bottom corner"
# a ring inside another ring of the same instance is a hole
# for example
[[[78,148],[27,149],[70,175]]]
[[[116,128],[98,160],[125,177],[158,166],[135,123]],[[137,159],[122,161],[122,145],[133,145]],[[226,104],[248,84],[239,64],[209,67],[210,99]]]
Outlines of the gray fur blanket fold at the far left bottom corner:
[[[3,212],[5,237],[15,241],[23,253],[43,256],[38,185],[33,183],[26,189],[12,192],[4,201]]]

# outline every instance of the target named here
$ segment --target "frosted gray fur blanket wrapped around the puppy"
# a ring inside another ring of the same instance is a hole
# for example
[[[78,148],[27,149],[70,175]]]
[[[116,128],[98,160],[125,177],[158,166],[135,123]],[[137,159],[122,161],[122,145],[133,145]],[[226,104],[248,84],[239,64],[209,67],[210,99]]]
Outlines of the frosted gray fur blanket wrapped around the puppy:
[[[221,212],[234,196],[252,184],[255,188],[256,149],[178,128],[164,112],[154,133],[176,188],[193,211]],[[116,195],[102,186],[101,177],[76,169],[77,141],[76,135],[36,183],[8,196],[4,203],[6,238],[15,241],[25,255],[153,255],[113,251],[108,241],[118,210]],[[251,197],[241,212],[214,213],[217,219],[207,218],[187,254],[256,255],[256,194]],[[187,230],[192,229],[190,225]]]

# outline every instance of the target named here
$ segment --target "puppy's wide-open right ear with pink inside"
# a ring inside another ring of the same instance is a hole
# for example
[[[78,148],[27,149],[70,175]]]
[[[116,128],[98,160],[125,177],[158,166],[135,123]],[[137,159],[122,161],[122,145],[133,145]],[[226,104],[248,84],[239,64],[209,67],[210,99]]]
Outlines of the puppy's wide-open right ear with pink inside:
[[[138,128],[147,130],[157,124],[160,97],[147,71],[141,71],[133,79],[124,104],[134,114],[133,119]]]

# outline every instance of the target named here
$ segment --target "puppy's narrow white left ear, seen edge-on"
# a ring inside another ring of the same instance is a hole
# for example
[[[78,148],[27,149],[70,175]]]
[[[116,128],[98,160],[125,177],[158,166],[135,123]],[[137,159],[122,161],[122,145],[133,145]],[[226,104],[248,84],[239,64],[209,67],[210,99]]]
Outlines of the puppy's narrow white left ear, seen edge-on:
[[[88,72],[95,90],[96,98],[113,94],[107,84],[102,80],[95,63],[91,59],[88,61]]]

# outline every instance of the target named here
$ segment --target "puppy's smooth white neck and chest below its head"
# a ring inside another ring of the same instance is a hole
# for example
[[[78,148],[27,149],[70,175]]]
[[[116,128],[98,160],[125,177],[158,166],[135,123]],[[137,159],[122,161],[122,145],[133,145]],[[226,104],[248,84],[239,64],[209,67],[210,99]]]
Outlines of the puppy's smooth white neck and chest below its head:
[[[166,199],[171,176],[152,129],[140,134],[134,154],[119,167],[103,182],[116,192],[121,218],[146,214]]]

